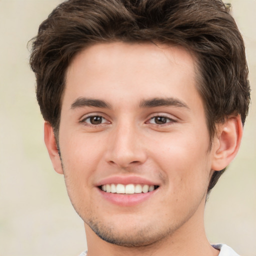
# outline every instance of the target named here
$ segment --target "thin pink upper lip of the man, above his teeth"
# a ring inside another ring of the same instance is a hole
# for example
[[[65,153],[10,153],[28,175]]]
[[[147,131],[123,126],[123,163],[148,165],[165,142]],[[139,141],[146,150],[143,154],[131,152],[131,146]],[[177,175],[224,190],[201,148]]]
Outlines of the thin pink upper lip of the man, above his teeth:
[[[103,178],[96,183],[96,186],[101,186],[104,184],[147,184],[147,185],[159,185],[156,182],[150,181],[147,178],[140,176],[110,176]]]

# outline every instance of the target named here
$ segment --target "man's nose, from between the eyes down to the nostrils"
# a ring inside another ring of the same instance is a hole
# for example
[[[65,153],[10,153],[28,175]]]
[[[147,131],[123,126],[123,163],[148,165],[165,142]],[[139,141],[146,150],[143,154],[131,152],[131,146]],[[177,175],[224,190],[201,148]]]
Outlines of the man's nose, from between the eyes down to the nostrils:
[[[139,127],[119,124],[111,131],[106,150],[106,161],[119,168],[127,168],[145,162],[146,150]]]

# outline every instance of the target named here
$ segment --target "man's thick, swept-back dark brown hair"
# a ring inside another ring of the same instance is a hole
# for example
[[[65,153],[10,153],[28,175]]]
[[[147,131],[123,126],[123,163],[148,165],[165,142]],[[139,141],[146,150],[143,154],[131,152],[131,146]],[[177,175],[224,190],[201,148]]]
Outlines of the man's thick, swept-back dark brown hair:
[[[244,123],[250,101],[244,43],[221,0],[67,0],[40,24],[30,56],[40,110],[56,138],[71,59],[88,44],[116,40],[192,51],[210,137],[230,114],[240,114]],[[214,171],[208,191],[223,171]]]

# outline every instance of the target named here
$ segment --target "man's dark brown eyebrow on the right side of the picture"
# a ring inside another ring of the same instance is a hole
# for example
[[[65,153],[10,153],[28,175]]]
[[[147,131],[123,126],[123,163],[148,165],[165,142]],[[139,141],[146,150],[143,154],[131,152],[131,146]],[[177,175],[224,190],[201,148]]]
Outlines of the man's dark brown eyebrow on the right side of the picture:
[[[190,109],[184,101],[173,97],[145,99],[140,102],[139,106],[143,108],[157,106],[174,106]]]

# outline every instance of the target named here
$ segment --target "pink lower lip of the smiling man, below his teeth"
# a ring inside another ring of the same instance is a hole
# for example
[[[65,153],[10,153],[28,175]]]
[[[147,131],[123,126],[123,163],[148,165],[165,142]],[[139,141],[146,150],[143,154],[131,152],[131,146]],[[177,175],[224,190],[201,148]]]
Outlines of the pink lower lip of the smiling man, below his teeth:
[[[134,193],[134,194],[107,193],[105,191],[102,191],[100,188],[98,188],[98,190],[104,199],[106,199],[107,201],[113,204],[120,205],[120,206],[133,206],[147,200],[149,197],[151,197],[155,193],[157,189],[147,193]]]

